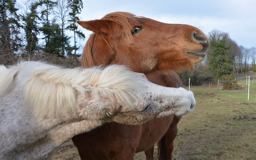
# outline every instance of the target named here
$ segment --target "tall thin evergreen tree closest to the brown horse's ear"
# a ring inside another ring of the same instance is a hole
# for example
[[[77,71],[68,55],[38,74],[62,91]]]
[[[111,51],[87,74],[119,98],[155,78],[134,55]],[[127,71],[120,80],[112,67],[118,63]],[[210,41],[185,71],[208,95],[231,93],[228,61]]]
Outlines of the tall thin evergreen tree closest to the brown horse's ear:
[[[78,30],[78,25],[76,24],[76,21],[79,20],[78,14],[81,13],[81,10],[83,8],[83,2],[82,0],[68,0],[68,7],[70,8],[71,12],[68,14],[70,15],[70,24],[68,26],[68,29],[74,33],[74,58],[76,58],[76,50],[78,50],[76,46],[76,35],[80,38],[85,38],[84,34]]]

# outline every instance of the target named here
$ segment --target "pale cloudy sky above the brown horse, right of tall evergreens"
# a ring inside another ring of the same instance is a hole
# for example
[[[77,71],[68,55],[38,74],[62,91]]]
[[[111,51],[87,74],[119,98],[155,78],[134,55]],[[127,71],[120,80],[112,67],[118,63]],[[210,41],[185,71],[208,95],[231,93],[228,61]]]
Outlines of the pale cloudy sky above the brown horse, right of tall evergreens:
[[[217,29],[227,32],[238,45],[256,47],[256,0],[83,0],[83,5],[80,20],[124,11],[160,22],[196,26],[206,35]]]

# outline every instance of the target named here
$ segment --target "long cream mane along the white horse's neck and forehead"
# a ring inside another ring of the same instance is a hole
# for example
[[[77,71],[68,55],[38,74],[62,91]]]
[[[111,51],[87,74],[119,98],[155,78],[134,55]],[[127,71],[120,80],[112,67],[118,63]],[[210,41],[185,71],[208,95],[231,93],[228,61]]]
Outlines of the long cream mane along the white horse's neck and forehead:
[[[71,69],[44,62],[20,62],[9,68],[0,66],[0,75],[0,96],[16,83],[22,87],[28,106],[40,117],[77,112],[78,94],[84,98],[113,95],[120,104],[129,104],[130,91],[140,85],[133,72],[119,65]]]

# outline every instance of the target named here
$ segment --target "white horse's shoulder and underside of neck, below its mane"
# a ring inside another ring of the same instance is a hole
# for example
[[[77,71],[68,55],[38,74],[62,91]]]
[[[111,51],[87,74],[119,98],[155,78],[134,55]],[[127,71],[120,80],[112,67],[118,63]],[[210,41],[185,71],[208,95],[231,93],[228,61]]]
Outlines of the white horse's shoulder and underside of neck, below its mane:
[[[15,107],[24,105],[17,104],[22,100],[10,98],[14,93],[16,98],[22,98],[21,94],[17,94],[19,93],[17,90],[20,88],[16,87],[8,92],[0,101],[0,160],[51,159],[52,151],[66,140],[102,124],[100,120],[82,120],[80,122],[77,120],[75,122],[68,119],[38,119],[33,116],[32,112],[24,110],[22,107]],[[8,110],[2,110],[1,106],[7,104],[9,104]],[[26,126],[26,129],[23,126]]]

